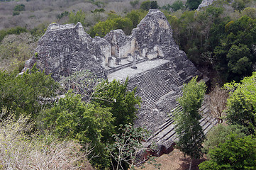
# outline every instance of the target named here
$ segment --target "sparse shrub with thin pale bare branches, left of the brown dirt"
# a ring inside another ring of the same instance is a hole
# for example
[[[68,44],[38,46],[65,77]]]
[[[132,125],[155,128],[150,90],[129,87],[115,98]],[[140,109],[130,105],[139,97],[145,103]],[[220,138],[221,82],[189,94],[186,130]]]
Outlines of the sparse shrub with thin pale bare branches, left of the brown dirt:
[[[150,133],[132,125],[120,125],[120,131],[121,134],[113,134],[115,142],[106,147],[114,160],[113,169],[128,169],[128,167],[135,169],[136,164],[142,164],[148,159],[147,151],[149,152],[151,148],[145,148],[142,142],[150,137]],[[146,157],[141,154],[145,154]]]

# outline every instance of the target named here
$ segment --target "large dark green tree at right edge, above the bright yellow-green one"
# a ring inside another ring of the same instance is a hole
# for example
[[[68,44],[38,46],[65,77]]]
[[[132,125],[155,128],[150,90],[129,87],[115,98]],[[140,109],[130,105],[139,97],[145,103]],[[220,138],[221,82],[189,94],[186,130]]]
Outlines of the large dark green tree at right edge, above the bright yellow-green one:
[[[243,16],[237,21],[226,22],[222,28],[218,28],[219,33],[216,37],[221,40],[213,42],[214,57],[216,58],[216,70],[222,75],[224,81],[239,81],[245,76],[252,74],[252,63],[254,63],[255,53],[253,53],[252,46],[256,40],[256,24],[255,20],[248,16]],[[224,30],[224,31],[223,31]],[[217,30],[216,30],[217,31]],[[212,40],[213,40],[212,39]]]

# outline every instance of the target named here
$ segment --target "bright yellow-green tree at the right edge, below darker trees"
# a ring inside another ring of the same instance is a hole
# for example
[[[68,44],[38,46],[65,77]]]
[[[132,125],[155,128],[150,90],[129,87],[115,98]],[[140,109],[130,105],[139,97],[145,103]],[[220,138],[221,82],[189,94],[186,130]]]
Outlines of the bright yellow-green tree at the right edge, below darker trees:
[[[254,134],[256,128],[256,72],[245,77],[241,83],[225,84],[230,90],[228,98],[227,120],[232,125],[243,125]]]

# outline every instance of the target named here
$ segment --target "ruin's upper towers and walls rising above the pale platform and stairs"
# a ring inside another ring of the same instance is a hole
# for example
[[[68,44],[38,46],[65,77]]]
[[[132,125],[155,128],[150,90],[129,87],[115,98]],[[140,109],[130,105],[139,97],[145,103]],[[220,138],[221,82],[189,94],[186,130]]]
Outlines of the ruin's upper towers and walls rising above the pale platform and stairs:
[[[123,30],[111,30],[104,38],[91,38],[81,23],[52,23],[38,41],[36,57],[26,62],[26,69],[37,62],[39,69],[59,80],[72,72],[88,69],[106,78],[115,69],[141,60],[163,59],[173,62],[184,79],[199,74],[172,38],[172,28],[165,15],[151,9],[148,15],[126,36]]]

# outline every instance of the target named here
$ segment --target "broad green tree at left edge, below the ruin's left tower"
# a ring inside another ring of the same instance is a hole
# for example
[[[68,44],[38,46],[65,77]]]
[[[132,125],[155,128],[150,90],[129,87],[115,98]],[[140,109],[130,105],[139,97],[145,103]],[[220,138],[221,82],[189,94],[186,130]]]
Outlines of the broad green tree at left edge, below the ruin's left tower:
[[[0,72],[0,110],[12,109],[16,115],[36,118],[42,108],[48,106],[46,98],[56,96],[59,85],[50,75],[40,72],[35,65],[17,76],[17,72]]]

